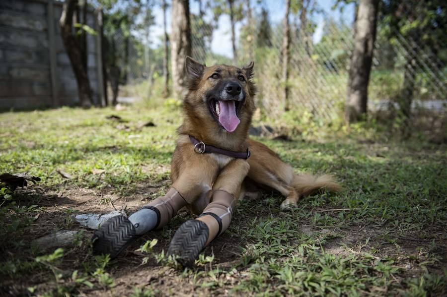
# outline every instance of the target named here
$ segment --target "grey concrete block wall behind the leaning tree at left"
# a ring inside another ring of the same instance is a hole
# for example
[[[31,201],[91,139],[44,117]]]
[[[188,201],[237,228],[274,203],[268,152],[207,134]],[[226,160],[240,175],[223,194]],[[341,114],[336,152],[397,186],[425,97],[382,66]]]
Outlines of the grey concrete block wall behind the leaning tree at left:
[[[79,102],[58,25],[61,13],[62,3],[54,0],[0,0],[0,112]],[[97,29],[92,11],[87,25]],[[98,36],[87,35],[87,63],[94,100],[101,102]]]

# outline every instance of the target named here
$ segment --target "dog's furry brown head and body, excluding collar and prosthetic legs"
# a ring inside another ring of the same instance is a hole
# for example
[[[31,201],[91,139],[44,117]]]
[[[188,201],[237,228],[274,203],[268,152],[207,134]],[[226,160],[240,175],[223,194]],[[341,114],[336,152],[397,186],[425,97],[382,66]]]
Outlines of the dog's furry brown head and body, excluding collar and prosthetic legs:
[[[284,195],[286,199],[281,204],[282,210],[297,205],[301,195],[320,188],[333,191],[341,188],[331,176],[315,178],[294,174],[292,167],[281,161],[267,146],[248,138],[248,128],[255,110],[253,63],[242,68],[227,65],[206,67],[188,57],[186,72],[189,93],[183,104],[184,120],[178,128],[171,179],[172,186],[191,205],[195,214],[203,211],[210,202],[211,193],[219,189],[234,195],[235,199],[259,196],[256,192],[244,190],[244,179],[247,177],[260,187],[267,186]],[[236,96],[222,96],[227,94],[225,86],[231,83],[239,86],[241,92]],[[237,117],[240,120],[238,124],[222,123],[219,119],[216,106],[227,98],[234,102],[235,114],[229,117]],[[237,126],[234,128],[231,124]],[[207,145],[230,151],[246,151],[249,148],[251,156],[244,160],[214,153],[197,154],[188,135]]]

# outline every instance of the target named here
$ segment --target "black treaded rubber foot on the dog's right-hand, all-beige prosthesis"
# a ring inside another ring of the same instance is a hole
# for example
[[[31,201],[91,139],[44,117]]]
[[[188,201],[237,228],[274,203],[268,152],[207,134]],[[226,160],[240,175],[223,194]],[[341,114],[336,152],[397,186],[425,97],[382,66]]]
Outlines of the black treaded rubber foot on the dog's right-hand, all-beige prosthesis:
[[[177,256],[184,266],[192,266],[208,240],[208,226],[199,220],[189,220],[175,232],[169,244],[169,255]]]

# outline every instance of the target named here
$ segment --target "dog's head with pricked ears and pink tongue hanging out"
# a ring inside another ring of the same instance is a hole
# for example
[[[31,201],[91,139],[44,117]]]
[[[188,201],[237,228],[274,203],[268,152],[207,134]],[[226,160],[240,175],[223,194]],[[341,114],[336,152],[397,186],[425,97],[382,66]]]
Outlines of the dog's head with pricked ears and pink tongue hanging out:
[[[186,58],[185,108],[202,124],[227,132],[248,129],[255,109],[253,62],[242,68],[224,64],[207,67]]]

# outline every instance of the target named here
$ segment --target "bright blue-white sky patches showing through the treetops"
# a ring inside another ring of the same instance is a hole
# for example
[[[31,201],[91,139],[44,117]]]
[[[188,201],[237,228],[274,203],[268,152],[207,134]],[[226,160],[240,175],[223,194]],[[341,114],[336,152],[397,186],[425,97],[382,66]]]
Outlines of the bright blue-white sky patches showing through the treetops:
[[[256,0],[252,1],[252,7],[255,7],[258,11],[260,6],[256,5]],[[343,19],[346,23],[351,23],[354,19],[354,5],[346,5],[343,12],[339,9],[332,10],[332,6],[335,0],[315,0],[317,7],[322,9],[322,13],[313,16],[313,20],[317,24],[314,35],[312,36],[313,42],[317,43],[321,39],[325,20],[327,18],[334,18],[335,20]],[[281,22],[285,13],[285,0],[264,0],[263,1],[267,9],[269,10],[270,23]],[[199,5],[197,1],[190,0],[190,10],[193,13],[199,11]],[[151,28],[151,38],[154,42],[152,46],[157,46],[159,40],[163,34],[163,13],[161,8],[155,7],[155,25]],[[211,15],[206,15],[205,18],[210,19]],[[168,31],[170,31],[171,15],[170,10],[167,12]],[[236,25],[236,38],[238,38],[238,31],[242,24],[239,22]],[[160,37],[160,38],[159,38]],[[230,20],[229,16],[223,15],[219,19],[219,26],[213,32],[213,41],[211,43],[211,50],[217,54],[221,54],[227,57],[232,57],[231,51],[231,36],[230,36]]]

